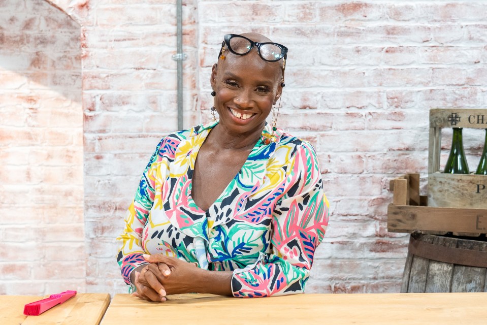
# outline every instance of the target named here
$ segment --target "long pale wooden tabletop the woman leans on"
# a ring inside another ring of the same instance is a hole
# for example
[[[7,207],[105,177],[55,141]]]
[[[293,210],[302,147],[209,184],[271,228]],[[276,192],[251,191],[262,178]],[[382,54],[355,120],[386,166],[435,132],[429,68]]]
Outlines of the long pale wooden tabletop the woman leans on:
[[[115,295],[102,325],[487,324],[487,293],[302,294],[239,299],[168,296],[151,303]]]

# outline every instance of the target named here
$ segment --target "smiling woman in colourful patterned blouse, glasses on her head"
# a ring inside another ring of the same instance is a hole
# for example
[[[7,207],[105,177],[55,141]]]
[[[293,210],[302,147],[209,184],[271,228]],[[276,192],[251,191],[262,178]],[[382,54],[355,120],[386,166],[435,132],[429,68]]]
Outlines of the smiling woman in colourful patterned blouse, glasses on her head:
[[[255,50],[254,50],[255,49]],[[129,292],[302,293],[328,224],[311,145],[273,126],[287,48],[225,35],[210,83],[219,121],[163,138],[117,238]]]

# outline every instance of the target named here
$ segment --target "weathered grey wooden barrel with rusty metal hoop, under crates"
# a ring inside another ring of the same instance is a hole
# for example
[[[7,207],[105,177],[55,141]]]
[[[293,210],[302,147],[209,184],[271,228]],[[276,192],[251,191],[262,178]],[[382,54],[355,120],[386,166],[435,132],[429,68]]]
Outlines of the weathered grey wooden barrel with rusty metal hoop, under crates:
[[[411,234],[401,292],[487,292],[487,241]]]

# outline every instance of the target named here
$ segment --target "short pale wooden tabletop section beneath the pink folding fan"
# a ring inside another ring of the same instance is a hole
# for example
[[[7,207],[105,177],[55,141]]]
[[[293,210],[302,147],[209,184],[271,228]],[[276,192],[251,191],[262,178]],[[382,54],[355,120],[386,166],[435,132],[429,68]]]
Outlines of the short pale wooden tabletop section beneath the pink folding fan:
[[[23,314],[25,304],[47,297],[0,296],[0,324],[99,324],[110,304],[109,294],[78,294],[39,316]]]

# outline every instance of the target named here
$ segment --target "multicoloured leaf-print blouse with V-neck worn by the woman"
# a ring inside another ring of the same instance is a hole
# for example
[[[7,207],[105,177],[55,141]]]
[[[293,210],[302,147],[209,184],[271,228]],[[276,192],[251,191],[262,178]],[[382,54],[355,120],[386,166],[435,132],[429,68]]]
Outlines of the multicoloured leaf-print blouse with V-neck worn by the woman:
[[[117,238],[129,292],[142,254],[162,253],[200,268],[233,271],[235,297],[303,293],[328,225],[328,201],[312,146],[270,125],[207,211],[191,199],[198,150],[218,123],[163,138],[150,158]]]

